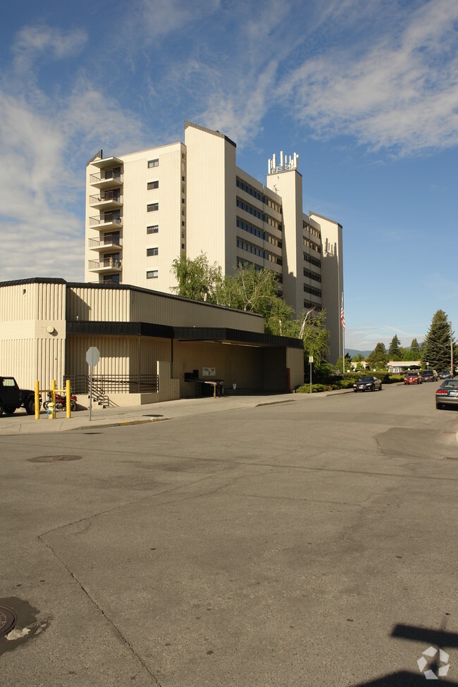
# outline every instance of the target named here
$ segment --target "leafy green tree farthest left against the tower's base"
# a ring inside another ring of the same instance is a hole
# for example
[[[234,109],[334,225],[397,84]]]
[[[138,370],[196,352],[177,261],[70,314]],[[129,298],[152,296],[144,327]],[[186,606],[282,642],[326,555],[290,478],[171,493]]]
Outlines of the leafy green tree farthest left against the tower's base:
[[[172,263],[172,272],[178,281],[173,290],[179,296],[216,303],[216,292],[223,280],[221,266],[217,263],[210,265],[204,253],[194,260],[181,253]]]

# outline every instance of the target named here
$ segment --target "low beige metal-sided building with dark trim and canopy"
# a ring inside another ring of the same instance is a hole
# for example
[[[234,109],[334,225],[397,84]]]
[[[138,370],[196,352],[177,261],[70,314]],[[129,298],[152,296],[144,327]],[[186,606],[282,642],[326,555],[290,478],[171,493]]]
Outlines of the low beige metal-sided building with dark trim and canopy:
[[[302,340],[264,333],[259,315],[128,285],[30,278],[0,283],[0,373],[87,392],[117,405],[226,390],[287,392],[303,383]],[[213,385],[209,385],[213,390]]]

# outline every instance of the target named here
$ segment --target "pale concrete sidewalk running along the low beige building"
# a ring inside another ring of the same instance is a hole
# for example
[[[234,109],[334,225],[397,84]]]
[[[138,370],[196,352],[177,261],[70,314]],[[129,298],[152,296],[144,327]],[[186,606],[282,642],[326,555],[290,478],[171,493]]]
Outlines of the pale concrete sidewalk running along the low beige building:
[[[346,393],[347,391],[344,391]],[[240,408],[252,408],[259,405],[276,403],[302,403],[312,399],[324,398],[329,393],[321,394],[273,394],[273,395],[227,395],[221,398],[187,398],[176,401],[150,403],[142,406],[102,408],[92,406],[92,419],[89,421],[89,409],[82,409],[66,417],[65,411],[57,411],[56,419],[50,420],[46,411],[41,411],[39,420],[25,411],[0,417],[0,436],[11,434],[56,433],[87,428],[116,427],[148,423],[161,420],[172,420],[180,417],[219,413]]]

